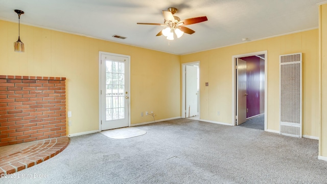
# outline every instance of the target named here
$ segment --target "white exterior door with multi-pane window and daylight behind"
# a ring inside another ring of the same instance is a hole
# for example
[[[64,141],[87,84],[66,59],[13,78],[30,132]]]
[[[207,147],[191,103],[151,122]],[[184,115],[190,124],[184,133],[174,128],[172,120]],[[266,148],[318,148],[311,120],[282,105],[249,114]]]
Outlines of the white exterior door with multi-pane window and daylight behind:
[[[101,130],[129,126],[129,57],[101,54]]]

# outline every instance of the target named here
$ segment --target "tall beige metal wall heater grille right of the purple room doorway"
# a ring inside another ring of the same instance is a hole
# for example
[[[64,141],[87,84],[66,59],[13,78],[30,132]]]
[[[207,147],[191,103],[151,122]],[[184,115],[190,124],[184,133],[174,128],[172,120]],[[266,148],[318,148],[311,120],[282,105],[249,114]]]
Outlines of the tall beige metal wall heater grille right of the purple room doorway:
[[[280,131],[302,137],[302,53],[279,56]]]

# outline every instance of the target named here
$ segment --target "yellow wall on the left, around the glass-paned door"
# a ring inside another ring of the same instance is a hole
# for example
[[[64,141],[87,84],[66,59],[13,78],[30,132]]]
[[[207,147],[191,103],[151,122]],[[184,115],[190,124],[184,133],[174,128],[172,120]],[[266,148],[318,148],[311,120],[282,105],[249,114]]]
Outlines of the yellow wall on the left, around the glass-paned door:
[[[99,129],[99,51],[131,56],[131,124],[180,117],[180,56],[0,20],[0,75],[66,77],[67,134]]]

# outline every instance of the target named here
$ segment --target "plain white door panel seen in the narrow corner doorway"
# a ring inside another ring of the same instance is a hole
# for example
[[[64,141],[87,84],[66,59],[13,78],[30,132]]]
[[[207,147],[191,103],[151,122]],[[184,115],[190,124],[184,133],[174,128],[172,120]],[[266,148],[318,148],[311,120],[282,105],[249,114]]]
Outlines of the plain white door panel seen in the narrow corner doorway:
[[[186,118],[197,116],[198,111],[198,68],[185,66],[185,111]]]

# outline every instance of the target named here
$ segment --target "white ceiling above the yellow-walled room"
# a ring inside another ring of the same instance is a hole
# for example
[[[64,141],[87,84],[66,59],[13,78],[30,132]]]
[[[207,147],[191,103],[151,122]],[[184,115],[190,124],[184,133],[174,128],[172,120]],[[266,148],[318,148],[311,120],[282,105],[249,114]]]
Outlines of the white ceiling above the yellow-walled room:
[[[178,55],[318,28],[317,3],[325,0],[0,0],[0,19],[75,33]],[[185,26],[195,31],[168,41],[155,36],[162,10],[175,7],[181,19],[207,16]],[[21,30],[23,31],[23,30]],[[127,37],[114,38],[112,35]],[[24,40],[24,38],[22,38]],[[24,42],[24,41],[23,41]]]

